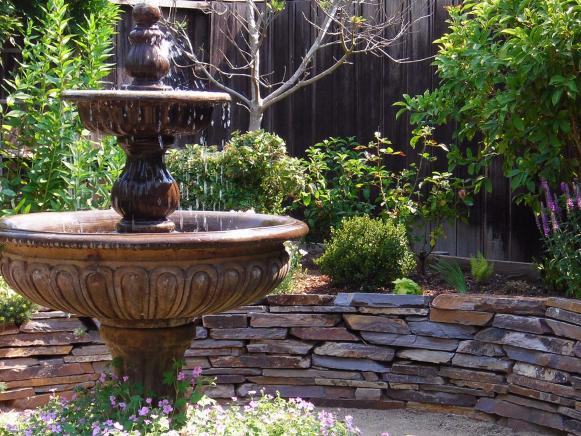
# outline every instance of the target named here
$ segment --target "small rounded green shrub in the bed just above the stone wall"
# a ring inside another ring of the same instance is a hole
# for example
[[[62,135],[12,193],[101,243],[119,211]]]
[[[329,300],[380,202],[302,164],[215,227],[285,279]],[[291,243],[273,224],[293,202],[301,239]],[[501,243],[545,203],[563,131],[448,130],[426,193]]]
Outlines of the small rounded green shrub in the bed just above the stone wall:
[[[317,264],[336,286],[374,289],[410,273],[415,257],[403,225],[392,219],[353,217],[331,230]]]

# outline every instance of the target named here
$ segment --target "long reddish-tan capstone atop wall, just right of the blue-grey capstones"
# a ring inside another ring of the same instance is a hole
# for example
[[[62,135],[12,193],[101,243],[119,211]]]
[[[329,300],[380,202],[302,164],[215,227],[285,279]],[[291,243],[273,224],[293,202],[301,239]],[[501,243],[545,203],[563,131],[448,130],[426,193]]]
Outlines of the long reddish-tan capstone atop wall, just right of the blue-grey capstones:
[[[532,297],[499,297],[493,295],[442,294],[434,298],[432,307],[446,310],[544,315],[546,299]]]

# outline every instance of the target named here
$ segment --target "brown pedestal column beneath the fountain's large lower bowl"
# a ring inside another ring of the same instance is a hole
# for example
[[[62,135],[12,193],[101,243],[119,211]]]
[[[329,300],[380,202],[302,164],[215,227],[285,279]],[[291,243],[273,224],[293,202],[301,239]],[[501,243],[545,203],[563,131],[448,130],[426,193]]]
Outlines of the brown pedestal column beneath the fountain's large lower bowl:
[[[195,336],[193,323],[177,327],[122,328],[101,325],[101,338],[113,356],[114,371],[128,376],[155,398],[173,398],[173,386],[163,383],[162,375],[171,371],[175,360],[182,360]]]

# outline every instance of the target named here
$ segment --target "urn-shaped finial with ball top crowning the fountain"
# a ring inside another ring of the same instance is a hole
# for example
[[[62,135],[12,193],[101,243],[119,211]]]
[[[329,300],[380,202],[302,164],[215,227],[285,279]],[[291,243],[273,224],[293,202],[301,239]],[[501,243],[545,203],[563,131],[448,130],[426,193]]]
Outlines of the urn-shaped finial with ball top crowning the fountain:
[[[133,7],[135,28],[129,34],[131,48],[125,63],[133,83],[127,89],[170,89],[161,83],[161,79],[169,73],[170,60],[167,51],[162,48],[164,34],[157,24],[160,19],[161,10],[157,6],[139,3]]]

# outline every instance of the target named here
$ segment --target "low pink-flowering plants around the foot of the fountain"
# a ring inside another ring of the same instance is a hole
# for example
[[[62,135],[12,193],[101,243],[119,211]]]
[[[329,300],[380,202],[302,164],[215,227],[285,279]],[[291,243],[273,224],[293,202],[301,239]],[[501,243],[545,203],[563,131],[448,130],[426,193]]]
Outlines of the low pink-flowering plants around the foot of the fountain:
[[[180,410],[169,400],[154,402],[143,396],[139,387],[128,381],[101,376],[95,388],[81,390],[68,402],[53,397],[49,404],[27,412],[16,423],[0,427],[0,435],[69,436],[85,435],[303,435],[360,434],[353,420],[344,421],[324,411],[316,414],[314,406],[301,399],[286,401],[261,395],[248,405],[223,408],[201,396],[207,381],[178,372],[174,380],[195,386],[195,406]]]

